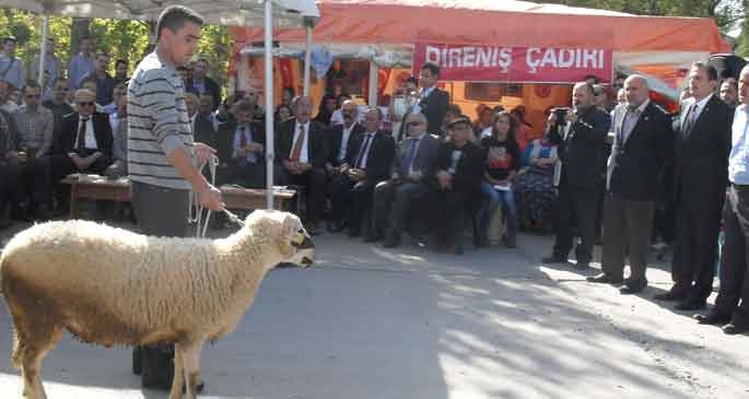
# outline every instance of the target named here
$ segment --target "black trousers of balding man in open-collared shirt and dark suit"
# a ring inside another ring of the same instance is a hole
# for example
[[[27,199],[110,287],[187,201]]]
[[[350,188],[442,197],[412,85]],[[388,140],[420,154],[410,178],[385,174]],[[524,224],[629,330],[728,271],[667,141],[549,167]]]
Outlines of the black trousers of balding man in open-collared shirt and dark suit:
[[[629,256],[630,279],[645,280],[655,202],[632,201],[609,193],[605,209],[604,272],[613,280],[621,280],[624,277],[624,258]]]

